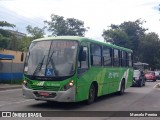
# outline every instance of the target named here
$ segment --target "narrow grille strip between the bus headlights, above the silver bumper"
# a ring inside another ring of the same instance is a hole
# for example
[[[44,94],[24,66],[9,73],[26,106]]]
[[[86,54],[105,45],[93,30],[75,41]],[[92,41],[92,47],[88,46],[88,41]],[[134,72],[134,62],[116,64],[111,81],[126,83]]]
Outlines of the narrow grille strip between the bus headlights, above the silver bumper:
[[[60,86],[36,86],[36,85],[31,85],[30,88],[32,90],[59,91]]]

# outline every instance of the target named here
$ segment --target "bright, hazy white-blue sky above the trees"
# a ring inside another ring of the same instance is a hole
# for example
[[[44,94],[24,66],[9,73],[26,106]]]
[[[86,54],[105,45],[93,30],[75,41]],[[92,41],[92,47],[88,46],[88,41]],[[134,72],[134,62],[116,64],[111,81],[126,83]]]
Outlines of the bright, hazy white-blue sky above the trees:
[[[147,32],[160,36],[160,0],[0,0],[0,21],[15,24],[13,30],[27,33],[26,26],[42,28],[56,14],[84,21],[85,36],[104,41],[103,30],[111,24],[145,20]]]

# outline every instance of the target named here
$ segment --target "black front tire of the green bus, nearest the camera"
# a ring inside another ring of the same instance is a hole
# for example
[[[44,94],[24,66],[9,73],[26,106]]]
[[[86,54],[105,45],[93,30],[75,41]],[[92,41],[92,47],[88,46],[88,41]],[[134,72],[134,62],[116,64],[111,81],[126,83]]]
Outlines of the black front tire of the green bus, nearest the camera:
[[[96,87],[94,84],[91,84],[88,92],[88,99],[87,99],[87,104],[90,105],[92,104],[96,99]]]

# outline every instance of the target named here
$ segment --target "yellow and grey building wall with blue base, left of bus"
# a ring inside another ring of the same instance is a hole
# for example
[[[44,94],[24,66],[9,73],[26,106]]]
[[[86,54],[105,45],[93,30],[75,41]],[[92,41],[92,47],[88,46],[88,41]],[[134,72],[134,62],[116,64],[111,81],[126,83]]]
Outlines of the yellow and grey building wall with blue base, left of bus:
[[[22,80],[24,66],[24,61],[21,61],[22,52],[0,50],[0,53],[14,55],[13,60],[0,60],[0,83]]]

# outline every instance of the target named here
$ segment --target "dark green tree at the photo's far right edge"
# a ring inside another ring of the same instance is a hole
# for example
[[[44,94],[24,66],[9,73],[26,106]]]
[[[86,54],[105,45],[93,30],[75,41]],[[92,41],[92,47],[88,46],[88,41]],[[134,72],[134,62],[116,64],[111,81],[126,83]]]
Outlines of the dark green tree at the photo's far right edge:
[[[152,69],[160,69],[160,40],[156,33],[146,34],[138,48],[139,61],[148,63]]]

